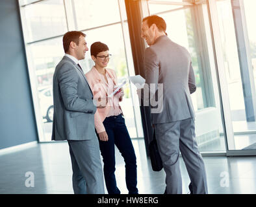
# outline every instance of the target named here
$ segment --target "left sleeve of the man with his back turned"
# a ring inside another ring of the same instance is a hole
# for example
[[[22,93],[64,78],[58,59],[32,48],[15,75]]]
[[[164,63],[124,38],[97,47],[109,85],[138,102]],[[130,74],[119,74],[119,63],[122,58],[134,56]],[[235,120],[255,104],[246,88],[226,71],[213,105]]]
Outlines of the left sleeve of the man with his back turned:
[[[144,86],[144,91],[146,91],[145,87],[149,87],[150,97],[152,98],[157,91],[157,85],[159,82],[159,58],[150,47],[147,47],[144,52],[144,65],[147,83]]]

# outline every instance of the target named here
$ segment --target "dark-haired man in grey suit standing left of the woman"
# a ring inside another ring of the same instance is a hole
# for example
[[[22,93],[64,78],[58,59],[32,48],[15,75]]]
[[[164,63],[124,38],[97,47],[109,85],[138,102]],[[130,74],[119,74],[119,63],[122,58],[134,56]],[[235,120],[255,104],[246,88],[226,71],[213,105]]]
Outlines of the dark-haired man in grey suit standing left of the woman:
[[[53,75],[52,140],[68,140],[74,193],[103,194],[103,171],[94,128],[96,100],[79,60],[88,50],[83,32],[64,34],[65,56]]]

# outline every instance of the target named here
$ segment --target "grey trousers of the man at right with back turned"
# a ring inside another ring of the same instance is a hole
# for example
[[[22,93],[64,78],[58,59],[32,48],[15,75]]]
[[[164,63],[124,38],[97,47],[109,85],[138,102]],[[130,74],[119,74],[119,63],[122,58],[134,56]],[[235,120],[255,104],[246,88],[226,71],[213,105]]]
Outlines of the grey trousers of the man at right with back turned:
[[[194,118],[156,124],[155,135],[166,172],[166,193],[182,193],[179,150],[192,183],[193,193],[208,193],[205,165],[196,142]]]

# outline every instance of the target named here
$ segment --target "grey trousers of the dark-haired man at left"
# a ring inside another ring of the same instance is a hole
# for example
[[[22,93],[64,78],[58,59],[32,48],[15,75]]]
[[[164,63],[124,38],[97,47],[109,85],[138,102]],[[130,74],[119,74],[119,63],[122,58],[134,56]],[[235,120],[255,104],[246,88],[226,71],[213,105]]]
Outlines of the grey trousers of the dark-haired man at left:
[[[99,141],[68,140],[73,170],[75,194],[104,194],[104,179],[99,153]]]

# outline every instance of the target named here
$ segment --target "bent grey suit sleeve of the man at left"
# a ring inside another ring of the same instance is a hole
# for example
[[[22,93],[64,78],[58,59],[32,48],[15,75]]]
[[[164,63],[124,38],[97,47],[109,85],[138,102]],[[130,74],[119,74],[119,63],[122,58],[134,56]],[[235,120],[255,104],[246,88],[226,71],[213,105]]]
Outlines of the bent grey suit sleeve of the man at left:
[[[68,111],[95,113],[96,105],[92,99],[81,99],[77,95],[79,76],[72,65],[63,67],[58,74],[58,83],[64,106]]]

